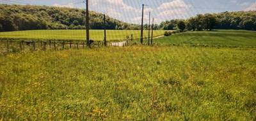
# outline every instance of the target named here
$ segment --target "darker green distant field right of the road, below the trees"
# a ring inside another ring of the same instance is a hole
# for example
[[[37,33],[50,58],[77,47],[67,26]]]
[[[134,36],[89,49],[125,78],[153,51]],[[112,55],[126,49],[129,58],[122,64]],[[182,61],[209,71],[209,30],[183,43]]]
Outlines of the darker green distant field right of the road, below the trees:
[[[195,31],[182,32],[154,40],[160,45],[225,45],[256,46],[255,31]]]

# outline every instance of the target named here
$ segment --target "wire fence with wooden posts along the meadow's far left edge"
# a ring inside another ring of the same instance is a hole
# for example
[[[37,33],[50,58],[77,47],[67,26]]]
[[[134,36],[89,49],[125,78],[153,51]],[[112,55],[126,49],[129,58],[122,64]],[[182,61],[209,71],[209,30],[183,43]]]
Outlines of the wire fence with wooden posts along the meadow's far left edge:
[[[128,41],[107,41],[107,46],[128,46]],[[104,41],[93,41],[90,47],[105,46]],[[0,41],[0,53],[84,49],[86,41]]]

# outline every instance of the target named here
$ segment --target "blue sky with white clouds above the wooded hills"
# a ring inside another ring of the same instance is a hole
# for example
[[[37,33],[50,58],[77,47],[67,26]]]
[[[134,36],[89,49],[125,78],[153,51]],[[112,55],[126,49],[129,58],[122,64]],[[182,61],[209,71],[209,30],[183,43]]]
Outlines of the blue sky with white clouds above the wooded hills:
[[[0,0],[0,3],[85,8],[83,0]],[[132,24],[140,24],[142,4],[146,4],[145,22],[150,12],[157,24],[196,14],[256,10],[256,0],[89,0],[89,4],[90,10]]]

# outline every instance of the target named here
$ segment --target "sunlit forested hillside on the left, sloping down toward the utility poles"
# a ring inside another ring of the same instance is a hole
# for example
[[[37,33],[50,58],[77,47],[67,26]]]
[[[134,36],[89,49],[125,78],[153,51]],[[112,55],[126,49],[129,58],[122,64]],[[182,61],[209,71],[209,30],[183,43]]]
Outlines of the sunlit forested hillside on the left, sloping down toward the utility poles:
[[[51,6],[0,4],[0,31],[85,29],[85,11]],[[90,11],[90,29],[104,29],[103,15]],[[106,29],[139,29],[106,16]]]

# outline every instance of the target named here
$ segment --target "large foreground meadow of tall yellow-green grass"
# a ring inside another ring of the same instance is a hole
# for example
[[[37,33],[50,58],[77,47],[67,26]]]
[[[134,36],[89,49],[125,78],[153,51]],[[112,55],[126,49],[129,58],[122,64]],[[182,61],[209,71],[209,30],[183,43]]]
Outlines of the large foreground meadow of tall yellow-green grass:
[[[21,52],[0,68],[3,120],[256,120],[255,48]]]

